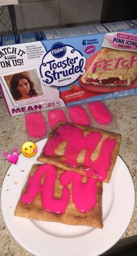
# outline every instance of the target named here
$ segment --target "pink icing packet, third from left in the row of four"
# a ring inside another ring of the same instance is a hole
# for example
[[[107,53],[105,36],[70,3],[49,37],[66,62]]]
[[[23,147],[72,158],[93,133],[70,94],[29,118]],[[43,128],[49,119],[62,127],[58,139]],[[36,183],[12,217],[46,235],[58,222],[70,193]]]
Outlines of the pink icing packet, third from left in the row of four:
[[[91,120],[88,114],[81,106],[71,106],[70,108],[68,108],[68,112],[73,123],[78,123],[79,125],[91,124]]]

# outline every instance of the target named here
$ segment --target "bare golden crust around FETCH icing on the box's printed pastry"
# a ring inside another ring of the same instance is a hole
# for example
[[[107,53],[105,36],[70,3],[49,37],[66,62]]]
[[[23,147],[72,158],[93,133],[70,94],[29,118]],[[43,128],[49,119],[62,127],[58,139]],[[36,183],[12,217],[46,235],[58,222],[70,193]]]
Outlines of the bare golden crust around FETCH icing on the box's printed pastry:
[[[116,50],[116,49],[110,49],[110,48],[103,48],[98,56],[94,59],[92,62],[91,66],[89,69],[85,72],[85,74],[81,77],[81,80],[83,83],[90,84],[90,81],[86,81],[86,79],[98,79],[98,80],[106,80],[106,79],[111,79],[111,78],[118,78],[120,80],[127,80],[127,86],[131,86],[132,82],[135,80],[137,77],[137,66],[136,63],[132,63],[131,67],[121,67],[119,64],[117,66],[117,69],[111,69],[111,70],[105,70],[102,71],[102,67],[98,67],[94,73],[92,73],[92,67],[95,62],[104,60],[104,59],[112,59],[108,64],[111,64],[111,68],[114,67],[116,64],[116,58],[124,58],[128,60],[131,58],[131,56],[134,56],[137,58],[137,53],[136,52],[131,52],[131,51],[121,51],[121,50]],[[137,61],[137,59],[136,59]],[[126,64],[127,62],[125,62]],[[110,66],[108,66],[110,67]],[[92,81],[92,84],[101,86],[102,84]],[[105,85],[104,85],[105,86]],[[117,86],[117,84],[110,83],[107,84],[106,86]]]

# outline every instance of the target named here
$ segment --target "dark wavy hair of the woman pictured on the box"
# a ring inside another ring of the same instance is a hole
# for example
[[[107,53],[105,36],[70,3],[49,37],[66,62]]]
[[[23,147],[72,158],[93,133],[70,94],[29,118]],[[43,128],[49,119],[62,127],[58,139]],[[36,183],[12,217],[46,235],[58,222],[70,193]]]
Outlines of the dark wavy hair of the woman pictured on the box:
[[[33,81],[31,81],[29,79],[28,76],[26,76],[25,74],[14,74],[11,81],[10,81],[10,93],[13,95],[13,98],[15,99],[19,99],[22,97],[21,93],[17,90],[17,86],[19,84],[19,80],[20,79],[26,79],[28,81],[28,83],[30,84],[30,91],[28,93],[28,95],[30,95],[30,97],[33,97],[34,95],[37,96],[37,92],[34,89],[34,83]]]

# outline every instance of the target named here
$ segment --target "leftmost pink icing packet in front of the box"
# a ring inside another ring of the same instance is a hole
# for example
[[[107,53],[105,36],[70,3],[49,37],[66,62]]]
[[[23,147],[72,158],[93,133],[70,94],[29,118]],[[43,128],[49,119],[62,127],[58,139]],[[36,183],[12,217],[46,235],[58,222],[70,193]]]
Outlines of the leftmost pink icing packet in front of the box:
[[[28,135],[42,138],[46,135],[46,122],[41,112],[28,113],[25,116]]]

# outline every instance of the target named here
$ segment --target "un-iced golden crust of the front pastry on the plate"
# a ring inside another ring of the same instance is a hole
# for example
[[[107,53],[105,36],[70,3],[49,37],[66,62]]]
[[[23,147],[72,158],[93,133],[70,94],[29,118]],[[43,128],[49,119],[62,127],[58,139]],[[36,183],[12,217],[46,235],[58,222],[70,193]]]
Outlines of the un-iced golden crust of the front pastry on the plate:
[[[40,164],[35,164],[32,166],[31,171],[28,175],[29,177],[33,176],[33,174],[37,171]],[[57,168],[57,173],[60,176],[64,170]],[[84,177],[85,178],[85,177]],[[28,180],[27,180],[28,182]],[[21,192],[23,194],[27,190],[27,182]],[[85,180],[86,182],[86,180]],[[67,205],[66,211],[64,214],[53,214],[52,212],[45,211],[41,205],[41,195],[38,194],[35,197],[33,203],[31,204],[23,204],[20,199],[17,202],[17,206],[15,209],[15,216],[20,216],[24,218],[36,219],[38,221],[49,221],[49,222],[60,222],[69,225],[85,225],[85,226],[93,226],[93,227],[103,227],[102,222],[102,183],[98,182],[98,195],[97,195],[97,204],[95,208],[91,211],[82,213],[77,210],[73,201],[70,197],[69,205]],[[59,198],[61,195],[62,185],[60,185],[59,181],[56,182],[55,187],[55,197]],[[69,186],[71,191],[71,186]]]

